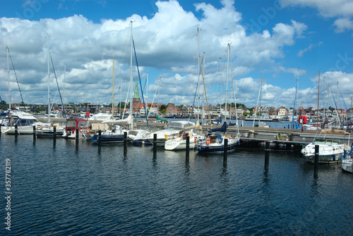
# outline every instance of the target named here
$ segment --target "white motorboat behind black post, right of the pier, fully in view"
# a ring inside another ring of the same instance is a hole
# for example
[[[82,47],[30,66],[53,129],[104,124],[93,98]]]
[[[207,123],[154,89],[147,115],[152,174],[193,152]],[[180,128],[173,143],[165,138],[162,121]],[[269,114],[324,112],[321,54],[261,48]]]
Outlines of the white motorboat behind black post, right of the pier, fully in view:
[[[345,144],[336,139],[315,139],[306,147],[301,149],[306,161],[315,162],[315,146],[318,145],[318,163],[338,163],[341,161],[345,151]]]

